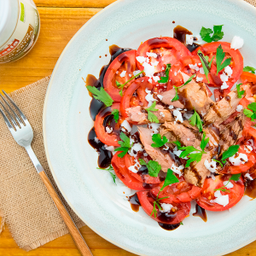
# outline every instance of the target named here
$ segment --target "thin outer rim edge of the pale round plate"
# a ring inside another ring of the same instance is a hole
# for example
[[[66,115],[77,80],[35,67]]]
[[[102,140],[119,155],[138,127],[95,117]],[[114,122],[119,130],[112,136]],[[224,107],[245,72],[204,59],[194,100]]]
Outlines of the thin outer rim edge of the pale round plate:
[[[172,1],[172,0],[169,0],[169,1]],[[214,1],[214,0],[210,0],[210,1]],[[251,3],[247,3],[245,0],[225,0],[227,2],[230,2],[230,3],[234,3],[234,4],[241,4],[241,5],[244,5],[244,6],[247,6],[247,8],[249,9],[253,9],[254,11],[256,11],[256,7],[254,7]],[[67,204],[72,208],[73,212],[75,212],[77,214],[77,216],[84,222],[84,224],[86,224],[91,230],[93,230],[94,232],[96,232],[97,235],[101,236],[102,238],[104,238],[105,240],[113,243],[113,245],[117,246],[117,247],[120,247],[130,253],[135,253],[136,255],[137,252],[131,250],[131,248],[128,248],[128,247],[125,247],[123,245],[119,245],[118,242],[115,242],[113,240],[111,240],[110,238],[108,238],[107,236],[105,235],[102,235],[102,233],[96,229],[94,229],[93,227],[90,226],[90,224],[88,224],[86,222],[86,220],[84,218],[82,218],[79,214],[79,212],[76,211],[75,207],[73,207],[72,203],[67,199],[67,195],[64,193],[63,189],[61,189],[61,184],[59,183],[59,180],[55,174],[55,171],[54,171],[54,168],[52,166],[52,163],[50,161],[50,157],[49,157],[49,150],[48,150],[48,143],[47,143],[47,139],[46,139],[46,108],[47,108],[47,102],[48,102],[48,99],[49,99],[49,91],[50,91],[50,88],[52,87],[53,85],[53,80],[54,80],[54,77],[55,77],[55,73],[57,72],[57,69],[58,67],[60,66],[61,64],[61,59],[62,57],[65,55],[67,49],[69,48],[69,46],[73,43],[73,41],[75,40],[75,38],[77,38],[79,36],[79,34],[84,30],[84,28],[86,26],[89,26],[91,22],[93,22],[93,20],[95,20],[99,15],[102,15],[102,13],[104,11],[106,11],[107,9],[110,9],[113,7],[114,4],[117,4],[117,3],[120,3],[120,2],[124,2],[124,0],[117,0],[116,2],[113,2],[113,3],[110,3],[107,7],[103,8],[101,11],[99,11],[96,15],[94,15],[93,17],[90,18],[90,20],[88,20],[86,23],[84,23],[83,26],[81,26],[81,28],[79,29],[78,32],[76,32],[74,35],[73,35],[73,38],[70,39],[70,41],[67,43],[66,47],[63,49],[63,51],[61,52],[61,55],[58,59],[58,61],[56,62],[55,64],[55,67],[54,67],[54,70],[53,72],[51,73],[50,75],[50,79],[49,79],[49,84],[47,86],[47,90],[46,90],[46,94],[45,94],[45,98],[44,98],[44,109],[43,109],[43,137],[44,137],[44,151],[45,151],[45,154],[46,154],[46,159],[47,159],[47,162],[48,162],[48,165],[49,165],[49,170],[50,172],[52,173],[52,176],[55,180],[55,184],[57,185],[58,189],[60,190],[61,192],[61,195],[63,195],[63,197],[65,198],[65,201],[67,201]],[[249,243],[253,242],[253,241],[256,241],[256,236],[253,238],[253,239],[250,239],[249,241],[246,241],[244,243],[242,243],[240,246],[234,248],[234,249],[230,249],[224,253],[221,253],[221,254],[216,254],[216,256],[222,256],[222,255],[225,255],[225,254],[228,254],[228,253],[233,253],[235,252],[236,250],[240,249],[241,247],[245,247],[247,246]],[[141,254],[142,256],[145,255],[147,256],[146,254]]]

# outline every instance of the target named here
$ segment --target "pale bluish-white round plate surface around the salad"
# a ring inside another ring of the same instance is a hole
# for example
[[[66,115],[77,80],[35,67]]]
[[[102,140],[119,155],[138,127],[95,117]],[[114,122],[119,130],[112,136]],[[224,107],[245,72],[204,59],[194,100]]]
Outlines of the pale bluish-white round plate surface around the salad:
[[[89,20],[67,44],[45,99],[44,145],[62,195],[100,236],[132,253],[154,256],[223,255],[256,239],[256,202],[248,197],[230,212],[207,212],[207,223],[190,216],[173,231],[162,230],[143,210],[133,212],[108,172],[96,170],[97,154],[87,142],[93,126],[90,96],[82,80],[89,73],[98,77],[109,61],[109,45],[137,49],[148,38],[172,37],[177,25],[196,35],[201,26],[224,24],[223,40],[244,38],[245,65],[256,67],[255,14],[251,5],[235,0],[123,0]]]

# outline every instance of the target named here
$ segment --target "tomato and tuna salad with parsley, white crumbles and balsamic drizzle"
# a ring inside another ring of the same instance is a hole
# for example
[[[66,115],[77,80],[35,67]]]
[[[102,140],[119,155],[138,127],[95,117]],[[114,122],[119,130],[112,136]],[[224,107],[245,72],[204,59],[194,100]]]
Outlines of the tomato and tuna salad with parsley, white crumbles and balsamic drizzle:
[[[195,37],[177,26],[138,49],[113,45],[100,78],[86,79],[99,168],[166,230],[191,201],[206,217],[255,197],[256,68],[244,67],[242,38],[220,41],[223,28]]]

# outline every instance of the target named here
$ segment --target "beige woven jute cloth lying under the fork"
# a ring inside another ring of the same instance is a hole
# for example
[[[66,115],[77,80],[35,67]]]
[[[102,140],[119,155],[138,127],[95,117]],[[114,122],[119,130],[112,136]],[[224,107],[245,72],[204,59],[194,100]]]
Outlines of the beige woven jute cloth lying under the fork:
[[[48,84],[49,77],[15,90],[9,96],[32,125],[32,148],[57,189],[43,142],[44,96]],[[18,246],[29,251],[67,234],[68,230],[25,148],[15,142],[3,118],[0,118],[0,127],[0,216],[3,217],[0,231],[5,221]],[[84,223],[65,201],[64,204],[77,226],[82,227]]]

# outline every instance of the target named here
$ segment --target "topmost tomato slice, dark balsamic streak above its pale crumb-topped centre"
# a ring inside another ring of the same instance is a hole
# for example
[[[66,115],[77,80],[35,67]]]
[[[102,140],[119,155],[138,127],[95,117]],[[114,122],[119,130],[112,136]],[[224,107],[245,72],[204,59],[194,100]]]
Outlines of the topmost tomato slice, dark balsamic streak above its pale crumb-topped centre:
[[[157,57],[148,57],[148,52],[156,54]],[[189,49],[177,39],[168,37],[148,39],[137,49],[137,56],[148,57],[150,62],[159,62],[154,68],[155,73],[163,72],[166,69],[166,64],[173,65],[186,55],[191,55]],[[139,61],[137,61],[137,67],[142,71],[144,70],[143,65]]]

